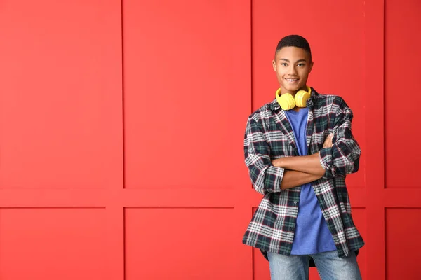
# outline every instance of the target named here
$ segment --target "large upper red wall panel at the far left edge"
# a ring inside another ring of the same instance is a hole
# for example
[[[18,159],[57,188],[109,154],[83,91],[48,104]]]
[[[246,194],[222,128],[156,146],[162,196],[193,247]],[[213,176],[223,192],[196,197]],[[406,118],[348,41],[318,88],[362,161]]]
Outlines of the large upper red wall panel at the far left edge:
[[[0,188],[121,183],[119,1],[3,1]]]

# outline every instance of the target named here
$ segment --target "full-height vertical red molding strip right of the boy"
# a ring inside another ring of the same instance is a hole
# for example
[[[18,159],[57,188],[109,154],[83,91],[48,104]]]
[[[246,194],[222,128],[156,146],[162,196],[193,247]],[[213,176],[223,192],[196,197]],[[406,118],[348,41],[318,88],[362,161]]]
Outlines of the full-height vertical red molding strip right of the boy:
[[[366,1],[365,13],[366,277],[385,279],[384,1]]]

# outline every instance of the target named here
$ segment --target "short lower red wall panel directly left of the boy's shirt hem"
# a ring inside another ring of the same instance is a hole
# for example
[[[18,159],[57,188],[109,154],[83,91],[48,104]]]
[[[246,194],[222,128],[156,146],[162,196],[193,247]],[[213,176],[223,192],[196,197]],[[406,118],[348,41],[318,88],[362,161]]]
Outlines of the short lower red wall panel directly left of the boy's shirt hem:
[[[236,279],[234,209],[126,209],[126,279]]]

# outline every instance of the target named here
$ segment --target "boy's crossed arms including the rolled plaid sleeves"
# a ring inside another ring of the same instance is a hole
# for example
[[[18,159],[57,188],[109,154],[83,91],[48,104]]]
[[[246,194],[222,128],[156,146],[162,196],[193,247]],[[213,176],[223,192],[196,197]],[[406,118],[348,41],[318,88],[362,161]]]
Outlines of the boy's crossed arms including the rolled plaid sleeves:
[[[244,139],[245,162],[258,193],[281,192],[321,177],[345,177],[358,171],[361,150],[352,136],[352,111],[340,97],[333,101],[326,121],[333,137],[326,139],[321,150],[313,155],[271,158],[273,147],[267,142],[265,122],[260,116],[248,119]]]

